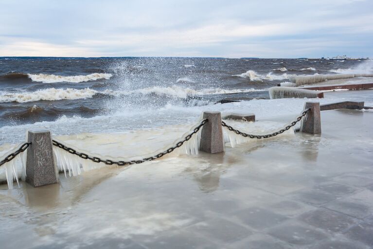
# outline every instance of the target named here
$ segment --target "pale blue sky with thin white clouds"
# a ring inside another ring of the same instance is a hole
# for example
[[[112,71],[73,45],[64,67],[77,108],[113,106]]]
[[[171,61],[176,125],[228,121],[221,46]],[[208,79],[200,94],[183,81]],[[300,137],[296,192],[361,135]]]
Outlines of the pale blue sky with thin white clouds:
[[[373,57],[373,0],[0,0],[0,57]]]

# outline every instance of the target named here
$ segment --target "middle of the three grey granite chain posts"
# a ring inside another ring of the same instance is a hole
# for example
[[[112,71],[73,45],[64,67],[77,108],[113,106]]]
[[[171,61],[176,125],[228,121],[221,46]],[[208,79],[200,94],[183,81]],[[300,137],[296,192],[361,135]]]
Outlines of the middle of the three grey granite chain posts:
[[[224,152],[224,138],[220,112],[204,112],[209,121],[202,127],[199,150],[207,153]]]

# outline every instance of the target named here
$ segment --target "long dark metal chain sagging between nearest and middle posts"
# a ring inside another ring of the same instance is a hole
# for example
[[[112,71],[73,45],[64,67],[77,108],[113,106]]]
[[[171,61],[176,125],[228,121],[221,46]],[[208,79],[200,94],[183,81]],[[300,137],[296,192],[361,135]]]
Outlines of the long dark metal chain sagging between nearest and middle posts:
[[[135,164],[135,163],[138,164],[138,163],[143,163],[143,162],[146,162],[146,161],[152,161],[152,160],[155,160],[155,159],[158,159],[158,158],[164,156],[165,154],[173,152],[175,149],[181,147],[186,141],[188,141],[189,139],[191,139],[192,136],[194,134],[196,134],[199,131],[199,129],[201,129],[201,127],[204,126],[207,123],[207,121],[208,121],[207,118],[203,119],[201,121],[201,123],[197,127],[195,127],[195,129],[190,134],[188,134],[187,136],[185,136],[185,138],[183,140],[179,141],[176,145],[174,145],[174,146],[170,147],[169,149],[167,149],[167,150],[165,150],[163,152],[160,152],[160,153],[158,153],[158,154],[156,154],[154,156],[142,158],[141,160],[112,161],[112,160],[109,160],[109,159],[101,159],[101,158],[96,157],[96,156],[89,156],[86,153],[79,153],[76,150],[71,149],[71,148],[69,148],[69,147],[67,147],[67,146],[65,146],[65,145],[63,145],[60,142],[57,142],[55,140],[52,140],[52,142],[53,142],[53,145],[56,146],[56,147],[58,147],[58,148],[61,148],[61,149],[65,150],[65,151],[67,151],[67,152],[69,152],[71,154],[77,155],[77,156],[79,156],[79,157],[81,157],[83,159],[89,159],[89,160],[91,160],[91,161],[93,161],[95,163],[101,163],[101,162],[103,162],[103,163],[105,163],[107,165],[116,164],[118,166],[125,166],[125,165],[131,165],[131,164]]]

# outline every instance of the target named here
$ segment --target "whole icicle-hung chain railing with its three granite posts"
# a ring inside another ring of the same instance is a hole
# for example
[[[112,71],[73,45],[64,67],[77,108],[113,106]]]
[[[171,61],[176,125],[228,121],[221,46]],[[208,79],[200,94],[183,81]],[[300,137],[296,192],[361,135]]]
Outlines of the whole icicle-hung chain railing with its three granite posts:
[[[307,118],[305,116],[307,115]],[[65,176],[78,175],[83,171],[102,168],[106,165],[128,166],[158,159],[168,153],[198,154],[221,153],[225,143],[231,147],[249,139],[264,139],[293,131],[294,125],[302,121],[301,132],[320,134],[320,103],[306,102],[303,112],[282,129],[269,134],[248,134],[239,131],[222,121],[220,112],[204,112],[203,117],[172,146],[152,154],[131,158],[102,156],[90,153],[58,139],[52,139],[49,131],[28,131],[27,142],[15,147],[9,155],[0,161],[1,171],[6,174],[8,188],[13,188],[13,181],[21,178],[34,187],[58,182],[58,172]],[[27,149],[27,155],[24,153]],[[27,174],[27,175],[26,175]]]

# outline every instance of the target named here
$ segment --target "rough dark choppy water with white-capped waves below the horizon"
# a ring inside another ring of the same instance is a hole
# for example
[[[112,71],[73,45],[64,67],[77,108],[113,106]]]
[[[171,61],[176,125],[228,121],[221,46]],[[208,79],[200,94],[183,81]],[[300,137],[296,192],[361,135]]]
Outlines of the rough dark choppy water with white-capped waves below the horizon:
[[[212,94],[252,92],[253,98],[262,97],[261,91],[291,76],[351,72],[371,73],[371,62],[0,57],[1,140],[10,127],[26,129],[36,122],[46,127],[58,124],[65,132],[104,132],[106,125],[97,125],[96,121],[113,116],[111,122],[132,120],[131,128],[183,122],[185,119],[174,115],[178,108],[213,104],[207,97]],[[187,96],[206,99],[188,101]],[[164,110],[166,118],[160,117],[160,110]],[[71,122],[75,123],[68,126]],[[76,128],[84,122],[84,128]]]

